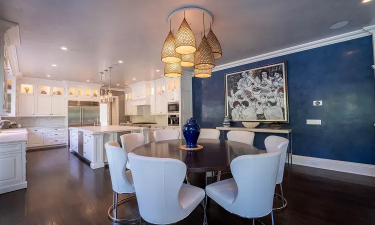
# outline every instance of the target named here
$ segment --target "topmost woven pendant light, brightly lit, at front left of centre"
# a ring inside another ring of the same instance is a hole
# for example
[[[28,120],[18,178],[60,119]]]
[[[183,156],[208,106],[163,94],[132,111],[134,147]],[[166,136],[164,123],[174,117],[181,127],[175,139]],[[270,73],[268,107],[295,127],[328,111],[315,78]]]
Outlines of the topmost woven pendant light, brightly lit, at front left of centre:
[[[195,36],[185,19],[185,11],[183,11],[182,23],[176,32],[174,47],[174,50],[180,54],[191,54],[196,51]]]

